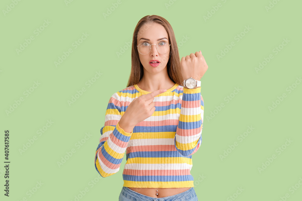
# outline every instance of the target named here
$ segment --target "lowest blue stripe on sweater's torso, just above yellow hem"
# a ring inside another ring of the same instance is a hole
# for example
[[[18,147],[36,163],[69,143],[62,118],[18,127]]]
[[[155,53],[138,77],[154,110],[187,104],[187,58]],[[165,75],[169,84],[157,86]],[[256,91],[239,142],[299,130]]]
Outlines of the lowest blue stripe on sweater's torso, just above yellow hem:
[[[168,181],[194,181],[193,176],[189,175],[172,175],[172,176],[164,176],[164,175],[155,175],[155,176],[134,176],[123,174],[123,180],[125,181],[155,181],[155,182],[168,182]]]

